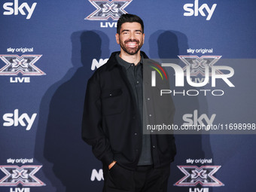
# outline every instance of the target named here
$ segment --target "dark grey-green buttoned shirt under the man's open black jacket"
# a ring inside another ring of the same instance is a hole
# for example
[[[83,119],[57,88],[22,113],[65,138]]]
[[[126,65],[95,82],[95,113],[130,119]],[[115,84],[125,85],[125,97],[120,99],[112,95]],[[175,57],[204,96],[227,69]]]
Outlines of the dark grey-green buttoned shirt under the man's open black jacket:
[[[135,65],[134,63],[126,62],[125,60],[120,58],[118,54],[116,55],[116,58],[120,66],[123,66],[123,72],[125,72],[126,77],[131,84],[136,99],[136,104],[139,108],[140,118],[141,120],[143,120],[143,56],[141,55],[141,60],[137,65]],[[145,166],[151,164],[153,164],[151,157],[151,136],[148,134],[143,134],[142,154],[139,157],[138,166]]]

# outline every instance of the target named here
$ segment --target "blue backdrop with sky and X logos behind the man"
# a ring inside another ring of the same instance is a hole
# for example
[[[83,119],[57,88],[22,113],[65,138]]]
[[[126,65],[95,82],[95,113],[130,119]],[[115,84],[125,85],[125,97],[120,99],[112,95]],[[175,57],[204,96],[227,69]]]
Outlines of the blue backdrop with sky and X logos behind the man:
[[[177,155],[168,191],[254,191],[254,0],[2,0],[0,191],[101,191],[81,140],[87,80],[120,50],[121,14],[145,22],[142,50],[169,72]],[[171,66],[163,65],[175,59]],[[175,64],[175,65],[174,65]],[[155,72],[155,75],[161,75]],[[164,78],[164,76],[163,76]]]

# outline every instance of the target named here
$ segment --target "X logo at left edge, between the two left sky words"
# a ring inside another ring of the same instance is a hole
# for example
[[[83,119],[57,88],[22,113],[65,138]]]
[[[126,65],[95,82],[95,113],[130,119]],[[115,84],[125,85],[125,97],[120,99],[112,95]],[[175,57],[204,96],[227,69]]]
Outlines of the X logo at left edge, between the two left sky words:
[[[5,66],[0,69],[0,75],[45,75],[40,69],[34,66],[41,55],[0,55]]]

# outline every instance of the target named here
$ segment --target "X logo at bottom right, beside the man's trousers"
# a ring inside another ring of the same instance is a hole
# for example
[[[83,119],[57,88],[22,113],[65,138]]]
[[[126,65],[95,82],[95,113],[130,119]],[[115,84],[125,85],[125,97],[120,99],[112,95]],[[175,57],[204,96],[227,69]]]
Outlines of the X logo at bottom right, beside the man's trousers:
[[[221,166],[178,166],[178,169],[185,176],[174,185],[183,187],[195,187],[197,184],[202,187],[224,186],[221,181],[213,176],[220,168]]]

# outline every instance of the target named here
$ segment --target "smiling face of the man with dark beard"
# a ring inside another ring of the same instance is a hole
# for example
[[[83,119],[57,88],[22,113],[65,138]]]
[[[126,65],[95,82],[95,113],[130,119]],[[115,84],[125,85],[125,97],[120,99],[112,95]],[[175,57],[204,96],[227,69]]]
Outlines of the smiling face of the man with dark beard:
[[[138,53],[144,44],[144,38],[142,26],[136,22],[123,23],[120,34],[116,34],[117,44],[120,44],[121,49],[130,55]]]

